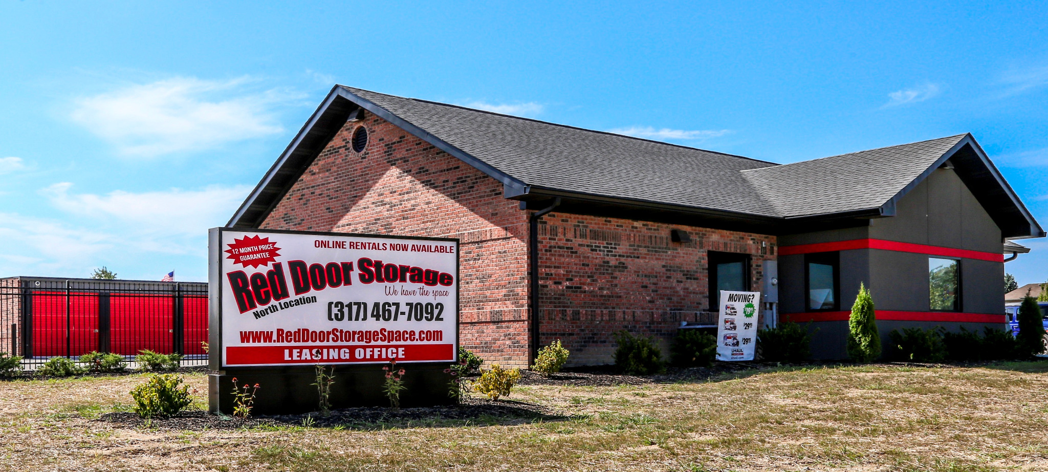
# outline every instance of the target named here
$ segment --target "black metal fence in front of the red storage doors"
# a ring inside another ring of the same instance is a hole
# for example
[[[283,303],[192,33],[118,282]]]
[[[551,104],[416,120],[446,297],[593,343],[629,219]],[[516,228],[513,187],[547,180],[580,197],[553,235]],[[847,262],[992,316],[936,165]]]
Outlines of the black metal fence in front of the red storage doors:
[[[208,284],[13,277],[0,279],[0,352],[34,369],[91,351],[133,361],[143,350],[206,365]]]

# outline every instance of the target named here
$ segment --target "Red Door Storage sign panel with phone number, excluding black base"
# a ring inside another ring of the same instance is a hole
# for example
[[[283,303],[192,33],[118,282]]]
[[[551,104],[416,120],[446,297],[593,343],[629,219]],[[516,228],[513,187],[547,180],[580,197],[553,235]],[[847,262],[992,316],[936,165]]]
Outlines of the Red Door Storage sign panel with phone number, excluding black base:
[[[223,367],[455,362],[457,240],[218,232]]]

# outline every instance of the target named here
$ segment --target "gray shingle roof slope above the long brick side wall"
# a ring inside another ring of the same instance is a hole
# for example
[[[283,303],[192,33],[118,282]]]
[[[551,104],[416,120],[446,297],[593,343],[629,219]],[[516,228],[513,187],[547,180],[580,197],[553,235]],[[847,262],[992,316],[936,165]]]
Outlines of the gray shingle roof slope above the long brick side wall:
[[[529,186],[776,216],[739,173],[773,163],[345,88]]]

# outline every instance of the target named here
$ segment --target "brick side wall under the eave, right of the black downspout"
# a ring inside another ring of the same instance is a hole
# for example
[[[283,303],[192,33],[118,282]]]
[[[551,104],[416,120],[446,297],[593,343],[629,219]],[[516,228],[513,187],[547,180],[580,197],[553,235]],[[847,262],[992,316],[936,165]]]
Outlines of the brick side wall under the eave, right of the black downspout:
[[[672,242],[672,229],[692,241]],[[611,363],[620,329],[655,337],[668,356],[681,321],[716,322],[707,251],[749,254],[760,289],[776,244],[774,236],[561,213],[543,217],[539,237],[541,342],[561,339],[569,365]]]

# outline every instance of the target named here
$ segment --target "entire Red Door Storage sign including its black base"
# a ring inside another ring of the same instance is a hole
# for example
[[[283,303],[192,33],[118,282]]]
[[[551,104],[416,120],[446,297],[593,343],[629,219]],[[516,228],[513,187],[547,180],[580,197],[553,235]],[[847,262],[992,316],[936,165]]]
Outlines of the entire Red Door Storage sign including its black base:
[[[388,404],[381,367],[405,368],[407,405],[450,403],[458,359],[458,240],[216,228],[210,234],[212,411],[233,378],[255,411],[316,409],[315,365],[335,365],[333,407]]]

